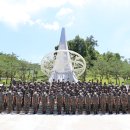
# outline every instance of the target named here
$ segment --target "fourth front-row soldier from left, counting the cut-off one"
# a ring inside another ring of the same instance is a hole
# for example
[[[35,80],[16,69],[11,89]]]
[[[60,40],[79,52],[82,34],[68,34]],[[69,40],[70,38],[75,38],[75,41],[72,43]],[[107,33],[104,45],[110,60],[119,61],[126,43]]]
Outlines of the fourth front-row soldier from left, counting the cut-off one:
[[[24,111],[25,114],[29,112],[29,107],[30,107],[30,94],[26,91],[24,95]]]

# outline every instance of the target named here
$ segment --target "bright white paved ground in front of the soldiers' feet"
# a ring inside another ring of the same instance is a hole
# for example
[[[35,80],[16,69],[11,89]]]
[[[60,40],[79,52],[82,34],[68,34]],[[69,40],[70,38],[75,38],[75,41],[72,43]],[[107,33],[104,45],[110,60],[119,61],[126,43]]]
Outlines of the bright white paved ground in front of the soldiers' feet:
[[[0,130],[130,130],[130,115],[0,114]]]

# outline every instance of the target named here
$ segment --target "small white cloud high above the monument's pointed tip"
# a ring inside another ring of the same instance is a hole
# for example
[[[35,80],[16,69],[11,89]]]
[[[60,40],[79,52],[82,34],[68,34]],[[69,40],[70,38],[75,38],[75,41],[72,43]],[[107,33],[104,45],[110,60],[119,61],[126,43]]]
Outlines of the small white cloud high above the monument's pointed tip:
[[[73,10],[71,8],[61,8],[59,12],[56,14],[57,17],[65,16],[72,14]]]

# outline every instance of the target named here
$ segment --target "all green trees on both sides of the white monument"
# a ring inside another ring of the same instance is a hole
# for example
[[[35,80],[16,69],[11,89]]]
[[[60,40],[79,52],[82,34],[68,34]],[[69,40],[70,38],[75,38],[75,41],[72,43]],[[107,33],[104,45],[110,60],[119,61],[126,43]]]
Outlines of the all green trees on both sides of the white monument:
[[[130,62],[119,53],[106,52],[101,54],[96,50],[98,41],[93,36],[81,38],[79,35],[68,41],[69,50],[73,50],[84,57],[86,61],[86,70],[79,77],[80,80],[86,81],[91,77],[93,80],[106,80],[111,83],[111,79],[116,84],[121,81],[127,82],[130,79]],[[55,47],[55,50],[58,46]],[[40,64],[30,63],[26,60],[19,59],[14,53],[0,53],[0,81],[5,79],[12,81],[14,78],[22,81],[37,81],[41,79],[47,81],[40,69]]]

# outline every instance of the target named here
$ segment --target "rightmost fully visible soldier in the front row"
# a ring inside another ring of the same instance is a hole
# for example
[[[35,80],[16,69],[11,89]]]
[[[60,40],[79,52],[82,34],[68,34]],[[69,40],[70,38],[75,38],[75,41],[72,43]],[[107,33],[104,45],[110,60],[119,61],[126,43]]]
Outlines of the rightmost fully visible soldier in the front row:
[[[126,113],[128,105],[128,95],[125,92],[121,94],[121,105],[122,105],[122,112]]]

